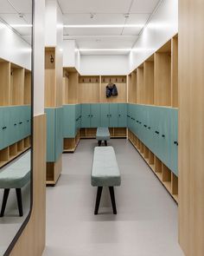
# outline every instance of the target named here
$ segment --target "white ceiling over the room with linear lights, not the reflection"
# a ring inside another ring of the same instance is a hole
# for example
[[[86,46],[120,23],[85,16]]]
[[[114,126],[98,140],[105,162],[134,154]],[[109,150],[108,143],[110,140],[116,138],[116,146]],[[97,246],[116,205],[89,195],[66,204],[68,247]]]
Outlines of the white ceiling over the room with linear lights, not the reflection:
[[[58,0],[64,25],[145,25],[161,0]],[[129,14],[125,18],[124,14]],[[94,17],[91,18],[91,14]],[[65,28],[64,39],[75,39],[79,49],[131,49],[142,28]],[[124,51],[86,51],[89,54],[128,54]]]

